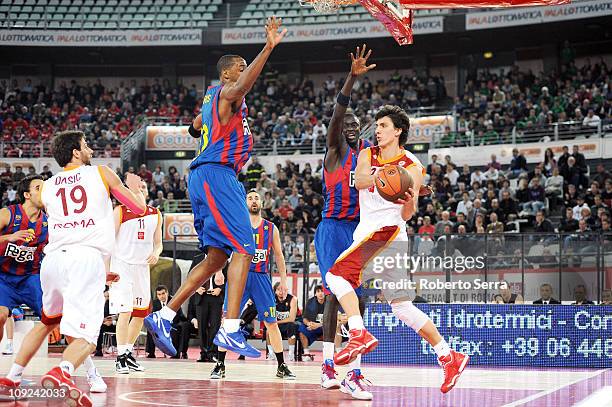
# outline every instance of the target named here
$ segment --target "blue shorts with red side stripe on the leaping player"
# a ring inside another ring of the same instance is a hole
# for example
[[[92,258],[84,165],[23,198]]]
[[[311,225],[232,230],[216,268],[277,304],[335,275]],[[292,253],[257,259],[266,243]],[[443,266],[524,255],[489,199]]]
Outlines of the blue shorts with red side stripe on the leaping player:
[[[200,249],[255,254],[246,191],[230,167],[203,164],[189,174],[189,198]]]

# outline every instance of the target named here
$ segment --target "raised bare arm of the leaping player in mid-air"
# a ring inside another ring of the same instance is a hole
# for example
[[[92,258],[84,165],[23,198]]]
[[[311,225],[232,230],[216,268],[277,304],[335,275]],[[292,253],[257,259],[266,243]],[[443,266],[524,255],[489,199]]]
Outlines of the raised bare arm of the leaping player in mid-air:
[[[223,87],[220,95],[220,102],[225,101],[226,103],[229,102],[229,104],[232,104],[242,100],[244,96],[249,93],[263,67],[266,65],[272,50],[278,45],[278,43],[281,42],[287,33],[286,28],[279,32],[278,30],[280,26],[280,18],[276,18],[276,16],[268,18],[266,21],[266,45],[263,47],[259,55],[255,57],[253,62],[251,62],[251,64],[244,69],[237,82]],[[222,105],[219,106],[219,110],[223,110]]]

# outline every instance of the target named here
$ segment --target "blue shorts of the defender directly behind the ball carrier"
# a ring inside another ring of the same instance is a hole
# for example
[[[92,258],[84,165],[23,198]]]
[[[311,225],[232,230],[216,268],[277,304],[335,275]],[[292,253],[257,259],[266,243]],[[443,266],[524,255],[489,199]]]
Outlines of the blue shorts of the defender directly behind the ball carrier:
[[[334,265],[338,257],[353,243],[353,232],[359,224],[358,221],[323,219],[315,232],[315,251],[319,262],[319,271],[323,279],[325,292],[329,294],[329,287],[325,282],[325,275]]]

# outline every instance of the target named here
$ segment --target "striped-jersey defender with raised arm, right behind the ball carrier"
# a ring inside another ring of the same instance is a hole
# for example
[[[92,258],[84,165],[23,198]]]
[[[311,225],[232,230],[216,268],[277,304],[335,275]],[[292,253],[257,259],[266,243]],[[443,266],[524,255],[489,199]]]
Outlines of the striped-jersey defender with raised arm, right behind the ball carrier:
[[[338,300],[330,294],[325,282],[327,271],[334,265],[340,253],[353,242],[353,232],[359,224],[359,192],[355,189],[354,174],[357,157],[363,148],[370,146],[365,140],[359,139],[361,125],[353,113],[347,113],[350,95],[356,79],[376,67],[368,65],[372,50],[357,47],[355,55],[351,53],[351,72],[348,74],[342,90],[336,98],[336,106],[327,131],[327,151],[323,162],[323,195],[324,206],[322,221],[315,234],[315,250],[319,261],[319,270],[323,279],[325,293],[325,311],[323,314],[323,365],[321,387],[337,389],[341,387],[336,379],[334,369],[334,342],[338,319]],[[359,381],[361,358],[357,358],[350,366],[351,372],[347,379]],[[343,382],[344,383],[344,382]],[[352,389],[354,397],[371,399],[371,394],[355,383]]]

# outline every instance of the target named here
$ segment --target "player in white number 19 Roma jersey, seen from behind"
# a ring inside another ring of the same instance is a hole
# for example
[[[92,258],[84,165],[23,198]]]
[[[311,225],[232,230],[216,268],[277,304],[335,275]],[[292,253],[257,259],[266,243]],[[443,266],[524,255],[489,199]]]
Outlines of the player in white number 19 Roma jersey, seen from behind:
[[[64,131],[53,139],[53,156],[63,171],[45,181],[42,202],[49,221],[49,243],[41,265],[42,324],[27,334],[6,378],[4,387],[17,387],[25,366],[58,325],[69,345],[59,366],[41,378],[45,388],[65,391],[66,402],[91,406],[72,375],[95,349],[104,319],[105,257],[115,245],[110,195],[135,213],[146,209],[140,177],[126,176],[126,188],[106,166],[90,165],[93,151],[80,131]]]

